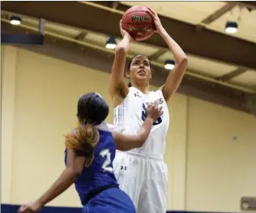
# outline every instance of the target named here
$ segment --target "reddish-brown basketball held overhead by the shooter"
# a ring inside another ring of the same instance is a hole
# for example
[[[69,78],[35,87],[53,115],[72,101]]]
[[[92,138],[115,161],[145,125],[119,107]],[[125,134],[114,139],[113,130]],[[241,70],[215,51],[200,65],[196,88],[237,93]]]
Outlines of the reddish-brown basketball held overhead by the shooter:
[[[122,28],[134,40],[145,40],[156,30],[154,19],[147,11],[146,6],[132,6],[122,15]]]

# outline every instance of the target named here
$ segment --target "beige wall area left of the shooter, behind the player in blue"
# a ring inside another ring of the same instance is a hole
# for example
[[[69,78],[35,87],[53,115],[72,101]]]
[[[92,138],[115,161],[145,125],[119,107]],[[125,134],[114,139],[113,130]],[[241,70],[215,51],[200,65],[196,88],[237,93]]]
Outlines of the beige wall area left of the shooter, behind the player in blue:
[[[109,75],[23,49],[4,52],[2,202],[20,203],[36,198],[61,173],[63,134],[75,127],[77,100],[96,91],[109,102]],[[112,117],[111,111],[108,121]],[[79,199],[72,187],[50,204],[79,206]]]

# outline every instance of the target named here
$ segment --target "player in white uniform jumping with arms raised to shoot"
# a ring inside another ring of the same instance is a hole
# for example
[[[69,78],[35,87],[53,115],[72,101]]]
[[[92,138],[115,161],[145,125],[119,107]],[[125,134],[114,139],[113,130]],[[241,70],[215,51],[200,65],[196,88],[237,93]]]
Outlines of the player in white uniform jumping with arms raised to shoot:
[[[152,92],[149,91],[150,62],[143,55],[134,56],[126,73],[131,84],[131,87],[128,87],[123,79],[123,74],[126,53],[133,38],[120,25],[123,39],[115,50],[109,83],[109,94],[114,105],[114,125],[118,126],[124,134],[136,134],[145,119],[147,104],[159,104],[163,114],[154,123],[151,133],[142,147],[131,151],[117,151],[113,167],[120,188],[130,195],[138,213],[165,213],[168,170],[163,157],[165,138],[169,129],[167,102],[177,91],[186,71],[188,60],[181,47],[163,28],[156,12],[148,9],[154,18],[156,32],[162,36],[173,53],[175,67],[169,73],[164,85]]]

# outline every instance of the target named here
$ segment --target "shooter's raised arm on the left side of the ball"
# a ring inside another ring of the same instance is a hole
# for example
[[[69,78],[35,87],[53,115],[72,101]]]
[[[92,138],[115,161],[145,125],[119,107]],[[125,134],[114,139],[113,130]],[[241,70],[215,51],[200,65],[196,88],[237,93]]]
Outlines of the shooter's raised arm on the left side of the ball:
[[[111,96],[113,103],[122,102],[122,100],[126,98],[129,92],[129,87],[126,85],[123,79],[123,75],[126,66],[126,53],[129,49],[130,42],[133,39],[128,32],[122,29],[121,21],[120,31],[123,38],[117,44],[117,47],[115,49],[115,58],[113,60],[112,72],[109,83],[109,95]]]

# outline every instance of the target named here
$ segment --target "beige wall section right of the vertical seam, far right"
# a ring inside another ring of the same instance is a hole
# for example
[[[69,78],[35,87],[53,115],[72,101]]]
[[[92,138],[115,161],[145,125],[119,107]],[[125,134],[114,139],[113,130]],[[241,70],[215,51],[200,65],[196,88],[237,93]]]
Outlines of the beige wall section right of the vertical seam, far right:
[[[186,207],[239,211],[256,197],[256,119],[194,98],[188,109]]]

